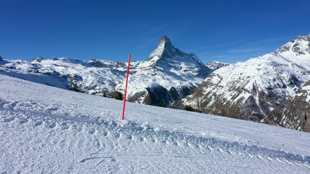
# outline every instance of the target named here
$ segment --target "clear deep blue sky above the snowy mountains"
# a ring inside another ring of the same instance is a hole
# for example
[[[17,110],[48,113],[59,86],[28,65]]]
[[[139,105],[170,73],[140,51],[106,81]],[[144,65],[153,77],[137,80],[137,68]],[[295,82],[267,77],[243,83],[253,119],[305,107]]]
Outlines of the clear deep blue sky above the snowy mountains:
[[[310,32],[310,0],[1,0],[0,56],[146,60],[161,35],[234,63]]]

